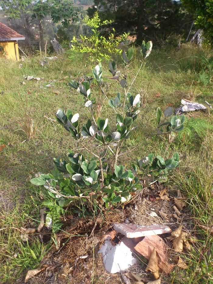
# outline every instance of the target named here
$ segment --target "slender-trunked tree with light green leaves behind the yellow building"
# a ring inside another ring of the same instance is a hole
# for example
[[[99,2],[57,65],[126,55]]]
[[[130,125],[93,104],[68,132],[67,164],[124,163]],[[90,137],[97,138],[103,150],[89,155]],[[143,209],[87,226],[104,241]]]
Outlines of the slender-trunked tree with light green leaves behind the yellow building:
[[[75,8],[70,0],[0,0],[8,19],[20,18],[20,13],[27,8],[32,19],[38,20],[41,50],[44,51],[44,17],[50,16],[54,23],[62,21],[63,26],[68,26],[71,21],[77,19],[79,10]]]

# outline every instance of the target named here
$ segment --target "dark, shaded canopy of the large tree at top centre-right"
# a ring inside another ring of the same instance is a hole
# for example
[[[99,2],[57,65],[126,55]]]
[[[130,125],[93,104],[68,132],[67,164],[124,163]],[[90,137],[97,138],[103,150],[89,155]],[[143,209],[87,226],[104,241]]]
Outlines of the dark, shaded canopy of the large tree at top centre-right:
[[[116,30],[137,35],[137,43],[145,39],[165,38],[169,34],[183,34],[190,27],[190,15],[179,1],[171,0],[94,0],[88,9],[101,18],[113,19]]]

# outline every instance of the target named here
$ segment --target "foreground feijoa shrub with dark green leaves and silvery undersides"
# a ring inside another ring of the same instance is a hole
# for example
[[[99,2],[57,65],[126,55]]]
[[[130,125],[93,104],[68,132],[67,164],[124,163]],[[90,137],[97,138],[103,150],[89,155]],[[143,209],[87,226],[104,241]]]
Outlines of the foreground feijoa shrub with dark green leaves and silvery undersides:
[[[76,147],[69,150],[67,160],[54,158],[58,174],[41,174],[31,180],[32,184],[44,185],[59,205],[72,203],[82,210],[89,208],[97,213],[98,208],[110,208],[130,199],[131,192],[142,188],[140,175],[146,175],[143,179],[147,180],[149,186],[151,182],[165,181],[169,172],[178,167],[177,153],[166,160],[149,154],[130,167],[118,163],[119,157],[124,154],[121,152],[124,141],[131,137],[137,127],[141,106],[140,94],[132,94],[130,89],[151,51],[152,42],[143,42],[141,66],[130,84],[127,75],[134,55],[133,47],[122,53],[124,74],[117,70],[115,61],[109,63],[111,79],[118,81],[123,90],[121,93],[115,92],[114,98],[109,98],[105,92],[101,63],[93,69],[93,78],[85,76],[79,81],[69,82],[70,87],[84,97],[90,118],[82,124],[79,113],[73,113],[70,109],[57,111],[57,121],[76,141]],[[114,118],[95,117],[96,98],[92,95],[93,88],[98,88],[100,95],[105,97]],[[169,131],[173,131],[173,128],[169,128]],[[90,158],[86,158],[88,156]]]

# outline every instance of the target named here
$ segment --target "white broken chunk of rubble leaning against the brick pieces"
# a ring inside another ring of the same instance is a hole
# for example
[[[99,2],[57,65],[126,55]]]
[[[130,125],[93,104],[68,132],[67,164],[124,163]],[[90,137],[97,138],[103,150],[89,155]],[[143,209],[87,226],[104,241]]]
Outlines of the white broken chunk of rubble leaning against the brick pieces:
[[[137,260],[132,256],[131,250],[123,242],[113,246],[110,240],[106,240],[99,253],[102,254],[106,271],[110,273],[124,271],[137,263]]]

